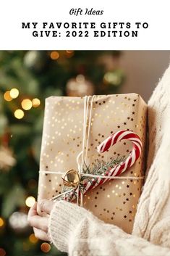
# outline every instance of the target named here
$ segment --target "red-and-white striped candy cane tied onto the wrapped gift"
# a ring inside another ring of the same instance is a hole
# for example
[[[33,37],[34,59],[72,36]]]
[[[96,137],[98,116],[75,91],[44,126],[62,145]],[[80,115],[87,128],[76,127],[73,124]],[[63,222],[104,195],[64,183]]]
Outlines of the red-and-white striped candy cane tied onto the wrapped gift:
[[[111,146],[114,146],[117,142],[122,140],[132,141],[132,152],[129,154],[125,161],[119,163],[119,165],[115,165],[114,168],[110,168],[110,170],[107,170],[106,173],[103,173],[104,176],[111,177],[121,175],[122,173],[124,173],[125,170],[129,169],[132,165],[134,165],[137,159],[140,157],[140,154],[143,149],[142,141],[140,140],[140,137],[136,133],[127,130],[117,131],[116,133],[112,134],[107,139],[105,139],[98,146],[98,152],[106,152],[106,150],[108,150]],[[87,182],[84,184],[85,193],[109,180],[109,178],[98,178],[97,180],[96,178],[92,178],[91,182]]]

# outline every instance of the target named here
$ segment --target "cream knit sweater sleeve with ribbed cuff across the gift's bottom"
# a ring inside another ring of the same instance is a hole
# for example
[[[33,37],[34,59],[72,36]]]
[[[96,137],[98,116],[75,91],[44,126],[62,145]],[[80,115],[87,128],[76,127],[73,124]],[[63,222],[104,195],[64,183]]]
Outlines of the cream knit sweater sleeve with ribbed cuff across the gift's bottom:
[[[69,256],[170,256],[170,250],[126,234],[75,204],[59,201],[48,226],[51,242]]]

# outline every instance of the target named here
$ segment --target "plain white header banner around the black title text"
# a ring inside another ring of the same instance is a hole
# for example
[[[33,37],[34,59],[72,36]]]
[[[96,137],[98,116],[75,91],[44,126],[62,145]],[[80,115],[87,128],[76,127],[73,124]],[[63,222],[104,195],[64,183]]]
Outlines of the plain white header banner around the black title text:
[[[77,17],[71,8],[103,9],[103,15]],[[170,49],[169,1],[5,0],[1,1],[0,49]],[[148,22],[138,38],[33,38],[21,22]]]

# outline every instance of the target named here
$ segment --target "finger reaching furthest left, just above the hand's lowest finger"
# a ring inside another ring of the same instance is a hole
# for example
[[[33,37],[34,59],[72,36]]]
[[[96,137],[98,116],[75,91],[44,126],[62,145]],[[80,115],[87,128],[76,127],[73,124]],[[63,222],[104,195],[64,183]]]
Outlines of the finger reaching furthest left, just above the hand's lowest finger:
[[[41,217],[41,216],[31,216],[29,218],[30,226],[34,228],[41,229],[42,231],[47,232],[48,231],[48,218],[47,217]]]

